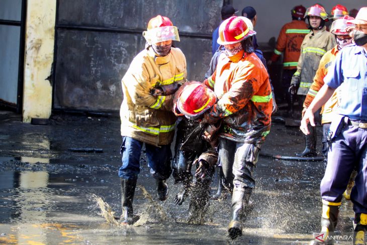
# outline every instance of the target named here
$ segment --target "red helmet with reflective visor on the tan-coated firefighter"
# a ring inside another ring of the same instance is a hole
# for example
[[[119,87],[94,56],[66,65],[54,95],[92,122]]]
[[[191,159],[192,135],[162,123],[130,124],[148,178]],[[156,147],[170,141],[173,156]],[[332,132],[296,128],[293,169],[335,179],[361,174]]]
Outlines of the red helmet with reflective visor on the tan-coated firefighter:
[[[143,36],[149,44],[168,40],[179,41],[177,27],[173,26],[168,17],[160,15],[150,19]]]

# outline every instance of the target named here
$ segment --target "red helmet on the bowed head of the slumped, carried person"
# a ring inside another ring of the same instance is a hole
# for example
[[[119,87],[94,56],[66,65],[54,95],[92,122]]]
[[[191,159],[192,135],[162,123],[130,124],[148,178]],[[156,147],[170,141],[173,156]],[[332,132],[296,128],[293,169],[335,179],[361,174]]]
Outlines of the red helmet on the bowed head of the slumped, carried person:
[[[198,117],[217,101],[214,92],[202,83],[193,83],[179,94],[177,109],[186,117]]]

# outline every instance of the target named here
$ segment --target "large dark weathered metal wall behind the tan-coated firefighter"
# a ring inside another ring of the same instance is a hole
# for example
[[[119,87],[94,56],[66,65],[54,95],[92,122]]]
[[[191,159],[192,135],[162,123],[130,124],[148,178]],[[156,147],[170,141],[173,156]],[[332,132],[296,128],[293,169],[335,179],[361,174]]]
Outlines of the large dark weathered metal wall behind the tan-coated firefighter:
[[[179,29],[188,79],[203,80],[211,59],[211,35],[222,0],[58,1],[54,109],[115,111],[121,78],[145,45],[150,18],[167,16]]]

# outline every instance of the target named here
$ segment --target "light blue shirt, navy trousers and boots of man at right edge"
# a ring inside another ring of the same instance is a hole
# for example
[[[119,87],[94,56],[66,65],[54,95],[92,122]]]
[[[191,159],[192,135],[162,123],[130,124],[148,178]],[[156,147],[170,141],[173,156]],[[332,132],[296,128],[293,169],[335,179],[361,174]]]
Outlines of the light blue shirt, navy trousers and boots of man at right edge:
[[[364,49],[343,48],[324,81],[333,89],[340,86],[340,99],[329,129],[328,163],[320,185],[322,231],[334,231],[342,194],[356,168],[350,195],[355,213],[353,239],[364,239],[367,228],[367,54]]]

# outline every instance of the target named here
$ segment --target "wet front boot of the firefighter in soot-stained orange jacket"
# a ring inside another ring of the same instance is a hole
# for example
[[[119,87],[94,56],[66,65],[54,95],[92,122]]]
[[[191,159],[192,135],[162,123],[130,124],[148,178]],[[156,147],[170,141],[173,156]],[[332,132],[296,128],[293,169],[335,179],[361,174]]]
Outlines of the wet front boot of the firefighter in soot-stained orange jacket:
[[[232,194],[232,220],[228,225],[228,236],[235,239],[242,235],[241,219],[244,218],[244,209],[251,195],[251,188],[234,189]]]

